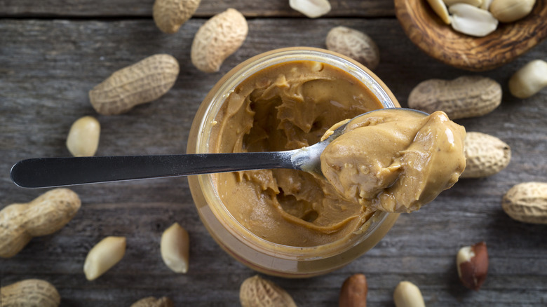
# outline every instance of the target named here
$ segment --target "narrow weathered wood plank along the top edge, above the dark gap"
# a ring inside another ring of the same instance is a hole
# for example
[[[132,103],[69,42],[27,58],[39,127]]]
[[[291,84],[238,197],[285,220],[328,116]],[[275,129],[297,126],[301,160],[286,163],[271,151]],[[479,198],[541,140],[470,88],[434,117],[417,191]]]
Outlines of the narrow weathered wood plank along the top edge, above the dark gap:
[[[107,1],[107,0],[3,0],[0,2],[0,15],[18,16],[73,16],[73,17],[151,17],[154,0]],[[386,0],[330,0],[332,9],[325,17],[378,17],[393,16],[393,1]],[[303,15],[283,1],[201,1],[194,17],[204,18],[220,13],[227,8],[236,8],[248,17],[302,17]]]

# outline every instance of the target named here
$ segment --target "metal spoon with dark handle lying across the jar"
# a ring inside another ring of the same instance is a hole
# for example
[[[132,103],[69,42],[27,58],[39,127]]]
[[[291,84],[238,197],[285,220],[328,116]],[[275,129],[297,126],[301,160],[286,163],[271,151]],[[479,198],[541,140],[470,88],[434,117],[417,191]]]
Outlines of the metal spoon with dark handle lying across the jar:
[[[414,109],[394,110],[416,111],[428,115]],[[371,112],[373,111],[365,114]],[[322,175],[319,156],[332,140],[342,135],[348,123],[337,128],[323,142],[290,151],[31,158],[13,165],[11,180],[23,188],[46,188],[272,168],[292,168]]]

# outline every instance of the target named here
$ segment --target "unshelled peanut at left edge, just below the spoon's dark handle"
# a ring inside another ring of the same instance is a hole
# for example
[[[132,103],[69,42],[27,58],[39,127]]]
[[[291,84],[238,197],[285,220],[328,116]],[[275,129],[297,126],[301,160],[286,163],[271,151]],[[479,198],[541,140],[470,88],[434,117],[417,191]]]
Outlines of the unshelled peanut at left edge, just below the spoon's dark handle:
[[[69,189],[53,189],[29,203],[14,203],[0,211],[0,257],[13,257],[33,237],[65,226],[80,209],[81,200]]]

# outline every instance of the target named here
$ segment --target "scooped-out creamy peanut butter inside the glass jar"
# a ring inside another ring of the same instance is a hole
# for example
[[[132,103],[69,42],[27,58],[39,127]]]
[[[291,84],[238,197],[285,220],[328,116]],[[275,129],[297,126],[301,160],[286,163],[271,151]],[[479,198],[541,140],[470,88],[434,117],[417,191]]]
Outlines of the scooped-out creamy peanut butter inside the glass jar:
[[[276,64],[249,76],[228,95],[215,118],[210,152],[299,149],[319,142],[335,123],[379,108],[377,97],[342,69],[313,61]],[[408,130],[412,131],[414,135],[401,139],[412,141],[416,131]],[[386,129],[385,133],[388,132]],[[459,136],[455,138],[459,142]],[[401,145],[406,141],[401,140]],[[419,144],[429,143],[424,140]],[[411,164],[403,160],[401,163]],[[381,163],[388,168],[392,164],[393,161]],[[392,177],[400,173],[392,168]],[[344,178],[344,174],[338,177]],[[365,197],[358,200],[348,198],[325,177],[298,170],[221,173],[214,175],[213,180],[222,203],[241,226],[264,240],[282,245],[311,247],[349,240],[383,205],[372,201],[363,205],[372,195],[364,192]],[[421,199],[429,199],[426,190],[430,186],[435,185],[424,185]],[[401,202],[407,199],[397,193],[393,195]],[[400,205],[386,203],[387,207],[397,209]]]

